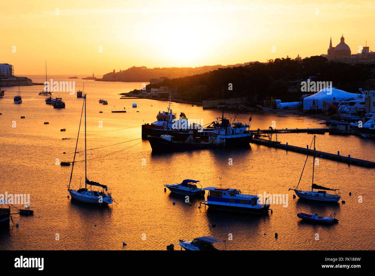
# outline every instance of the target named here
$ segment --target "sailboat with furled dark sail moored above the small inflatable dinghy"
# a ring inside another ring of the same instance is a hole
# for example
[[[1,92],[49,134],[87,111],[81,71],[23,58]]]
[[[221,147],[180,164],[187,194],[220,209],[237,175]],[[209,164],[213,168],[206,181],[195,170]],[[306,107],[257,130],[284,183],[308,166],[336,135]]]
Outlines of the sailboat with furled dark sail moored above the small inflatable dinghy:
[[[308,155],[306,157],[305,165],[303,166],[301,177],[300,177],[300,181],[298,181],[297,187],[296,188],[293,187],[293,188],[291,188],[289,190],[294,190],[294,192],[296,192],[296,195],[299,198],[303,198],[303,199],[309,199],[309,200],[314,200],[314,201],[338,202],[339,199],[341,198],[341,196],[340,196],[340,193],[339,192],[336,193],[336,191],[339,191],[340,189],[330,189],[330,188],[326,188],[326,187],[323,187],[323,186],[319,186],[319,185],[317,185],[317,184],[314,183],[315,137],[316,136],[314,135],[314,157],[312,158],[312,185],[311,185],[311,191],[302,191],[302,190],[298,189],[298,186],[299,186],[299,184],[301,182],[301,178],[302,178],[302,174],[303,174],[303,169],[305,169],[306,161],[307,161],[307,159],[309,157],[310,150],[309,150]],[[311,146],[310,146],[310,149],[311,149]],[[324,191],[314,191],[314,189],[324,190]],[[326,192],[326,190],[334,191],[335,195],[330,195],[329,193]]]

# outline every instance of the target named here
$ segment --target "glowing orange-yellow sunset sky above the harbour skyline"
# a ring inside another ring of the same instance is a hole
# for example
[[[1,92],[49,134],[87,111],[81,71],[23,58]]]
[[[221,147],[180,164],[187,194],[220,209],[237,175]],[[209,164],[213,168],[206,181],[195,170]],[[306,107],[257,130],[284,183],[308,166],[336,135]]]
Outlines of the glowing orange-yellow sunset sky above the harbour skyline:
[[[345,2],[1,1],[0,63],[15,75],[44,74],[47,60],[49,74],[101,77],[130,66],[304,58],[327,53],[330,36],[335,46],[342,33],[352,53],[366,40],[375,49],[375,3]]]

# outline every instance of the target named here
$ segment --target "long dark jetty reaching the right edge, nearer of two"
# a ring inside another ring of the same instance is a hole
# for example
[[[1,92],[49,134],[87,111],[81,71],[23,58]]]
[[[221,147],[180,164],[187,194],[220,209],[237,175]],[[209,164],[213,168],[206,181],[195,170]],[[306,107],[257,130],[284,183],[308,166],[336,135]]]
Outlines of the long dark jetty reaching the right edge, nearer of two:
[[[263,146],[269,146],[269,147],[272,147],[272,148],[285,149],[286,151],[294,151],[294,152],[300,152],[302,154],[314,155],[314,150],[309,149],[308,148],[309,145],[307,145],[306,148],[301,148],[299,146],[288,145],[288,143],[282,144],[282,143],[275,142],[275,141],[270,141],[270,140],[266,140],[266,139],[257,139],[257,138],[251,139],[250,143],[263,145]],[[340,155],[339,151],[338,151],[337,154],[332,154],[332,153],[329,153],[329,152],[323,152],[323,151],[315,150],[315,156],[330,159],[330,160],[339,161],[339,162],[342,162],[342,163],[353,164],[353,165],[356,165],[356,166],[375,167],[375,162],[357,159],[357,158],[352,158],[352,157],[350,157],[350,154],[348,156],[343,156],[343,155]]]

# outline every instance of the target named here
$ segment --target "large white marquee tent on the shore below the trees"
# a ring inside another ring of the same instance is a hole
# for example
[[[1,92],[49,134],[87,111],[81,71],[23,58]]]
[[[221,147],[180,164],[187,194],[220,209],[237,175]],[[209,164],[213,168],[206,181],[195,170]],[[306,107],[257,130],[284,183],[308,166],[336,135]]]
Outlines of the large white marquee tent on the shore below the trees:
[[[357,97],[357,94],[345,92],[344,90],[336,88],[325,88],[314,95],[304,98],[303,109],[311,109],[313,101],[315,101],[317,109],[323,109],[323,101],[326,101],[327,103],[332,103],[333,98],[335,98],[335,100],[344,100],[354,97]]]

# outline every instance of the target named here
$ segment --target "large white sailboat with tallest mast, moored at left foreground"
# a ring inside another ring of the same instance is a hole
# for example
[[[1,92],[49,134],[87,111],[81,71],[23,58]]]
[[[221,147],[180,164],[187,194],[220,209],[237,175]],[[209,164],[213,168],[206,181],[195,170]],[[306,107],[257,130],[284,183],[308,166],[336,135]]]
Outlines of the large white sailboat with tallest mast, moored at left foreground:
[[[80,127],[78,128],[78,136],[77,136],[77,144],[75,146],[74,151],[74,159],[73,159],[73,166],[72,166],[72,172],[71,172],[71,178],[69,181],[68,186],[68,192],[71,195],[71,197],[77,201],[84,202],[84,203],[92,203],[92,204],[112,204],[113,199],[110,193],[107,192],[107,186],[99,184],[95,181],[89,181],[87,179],[87,157],[86,157],[86,95],[84,95],[84,107],[85,107],[85,187],[80,188],[78,190],[71,189],[71,182],[72,182],[72,175],[73,175],[73,168],[75,164],[75,154],[77,153],[77,145],[78,145],[78,137],[80,136],[80,128],[81,128],[81,121],[80,121]],[[83,107],[82,107],[83,111]],[[82,113],[81,113],[81,120],[82,120]],[[89,186],[89,189],[87,189],[87,186]],[[91,190],[92,186],[98,186],[101,187],[103,190],[101,192],[96,190]]]

